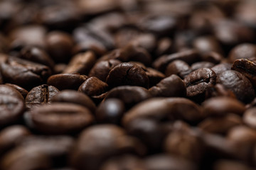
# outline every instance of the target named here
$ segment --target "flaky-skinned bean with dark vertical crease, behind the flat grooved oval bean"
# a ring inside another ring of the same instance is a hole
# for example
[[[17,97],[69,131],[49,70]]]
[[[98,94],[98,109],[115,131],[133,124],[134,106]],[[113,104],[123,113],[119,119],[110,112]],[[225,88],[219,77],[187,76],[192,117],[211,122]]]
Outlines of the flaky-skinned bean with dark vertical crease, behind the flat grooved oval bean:
[[[41,104],[51,103],[53,96],[58,94],[58,91],[54,86],[47,84],[34,87],[26,96],[26,108],[36,108]]]

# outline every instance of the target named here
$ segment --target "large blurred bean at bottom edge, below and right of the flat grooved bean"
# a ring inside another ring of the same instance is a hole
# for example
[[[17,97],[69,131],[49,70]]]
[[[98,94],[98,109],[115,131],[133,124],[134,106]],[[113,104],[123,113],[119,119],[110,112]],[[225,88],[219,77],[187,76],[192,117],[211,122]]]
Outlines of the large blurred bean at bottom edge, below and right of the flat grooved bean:
[[[116,125],[95,125],[80,133],[71,163],[77,169],[96,170],[106,159],[131,152],[144,154],[144,145]]]

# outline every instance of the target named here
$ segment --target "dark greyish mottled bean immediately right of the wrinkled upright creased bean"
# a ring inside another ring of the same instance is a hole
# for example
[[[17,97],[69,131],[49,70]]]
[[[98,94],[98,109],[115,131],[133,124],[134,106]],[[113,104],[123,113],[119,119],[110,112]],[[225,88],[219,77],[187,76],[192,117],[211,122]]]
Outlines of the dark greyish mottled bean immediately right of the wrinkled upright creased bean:
[[[255,98],[255,91],[250,81],[240,72],[228,70],[220,73],[218,82],[233,91],[238,100],[249,103]]]

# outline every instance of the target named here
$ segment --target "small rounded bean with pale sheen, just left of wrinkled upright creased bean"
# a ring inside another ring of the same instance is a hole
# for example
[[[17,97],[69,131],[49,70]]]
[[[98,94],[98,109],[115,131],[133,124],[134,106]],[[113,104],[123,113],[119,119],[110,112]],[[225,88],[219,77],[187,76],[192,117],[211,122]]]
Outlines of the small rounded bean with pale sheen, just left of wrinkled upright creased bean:
[[[184,79],[191,71],[191,67],[182,60],[174,60],[166,67],[166,76],[171,76],[171,74],[176,74],[181,79]]]

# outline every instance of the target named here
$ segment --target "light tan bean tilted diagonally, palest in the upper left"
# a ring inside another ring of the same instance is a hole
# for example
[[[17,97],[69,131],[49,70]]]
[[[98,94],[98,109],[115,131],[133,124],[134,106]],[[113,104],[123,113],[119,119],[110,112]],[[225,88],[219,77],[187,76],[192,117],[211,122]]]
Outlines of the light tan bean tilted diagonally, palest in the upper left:
[[[93,52],[80,53],[70,60],[63,73],[88,74],[95,62],[96,57]]]

